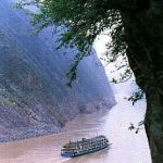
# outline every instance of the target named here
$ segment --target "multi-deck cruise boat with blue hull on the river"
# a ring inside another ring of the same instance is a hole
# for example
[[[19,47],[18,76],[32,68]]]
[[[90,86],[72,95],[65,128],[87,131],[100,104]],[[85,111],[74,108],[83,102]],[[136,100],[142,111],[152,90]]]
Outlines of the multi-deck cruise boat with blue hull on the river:
[[[61,155],[67,158],[79,156],[96,151],[100,151],[110,147],[105,136],[100,135],[90,139],[83,138],[79,141],[65,143],[61,149]]]

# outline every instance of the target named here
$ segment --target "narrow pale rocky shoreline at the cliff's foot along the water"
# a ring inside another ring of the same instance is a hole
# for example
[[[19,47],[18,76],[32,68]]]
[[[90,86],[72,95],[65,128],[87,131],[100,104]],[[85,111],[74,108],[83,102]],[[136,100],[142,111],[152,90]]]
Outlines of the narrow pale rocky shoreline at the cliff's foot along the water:
[[[8,129],[8,128],[0,128],[1,134],[0,134],[0,143],[7,143],[7,142],[14,142],[17,140],[26,140],[26,139],[33,139],[37,137],[42,137],[42,136],[49,136],[53,134],[62,134],[65,133],[65,126],[66,123],[75,120],[76,117],[83,115],[83,114],[92,114],[97,111],[110,111],[115,104],[113,104],[110,108],[102,108],[99,110],[93,110],[92,112],[86,112],[86,113],[80,113],[74,116],[73,118],[66,121],[62,127],[57,126],[54,124],[49,124],[49,125],[37,125],[37,126],[29,126],[29,127],[21,127],[21,128],[14,128],[14,129]]]

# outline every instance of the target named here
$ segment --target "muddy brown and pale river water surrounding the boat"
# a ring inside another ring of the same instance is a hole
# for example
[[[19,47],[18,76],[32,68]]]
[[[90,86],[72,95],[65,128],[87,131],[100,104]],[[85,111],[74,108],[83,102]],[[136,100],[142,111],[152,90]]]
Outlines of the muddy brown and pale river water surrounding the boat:
[[[125,100],[111,111],[80,115],[68,122],[64,133],[0,145],[0,163],[150,163],[145,131],[138,135],[127,129],[130,121],[141,118],[140,110],[130,112]],[[123,106],[122,106],[123,105]],[[113,143],[111,149],[67,159],[60,150],[70,139],[90,138],[104,134]]]

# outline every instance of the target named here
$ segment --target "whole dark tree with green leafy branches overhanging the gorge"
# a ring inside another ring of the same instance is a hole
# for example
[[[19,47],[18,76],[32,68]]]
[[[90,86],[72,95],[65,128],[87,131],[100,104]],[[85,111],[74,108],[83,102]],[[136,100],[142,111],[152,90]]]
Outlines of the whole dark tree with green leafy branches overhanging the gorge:
[[[163,162],[163,1],[161,0],[23,0],[18,7],[36,4],[37,29],[60,30],[60,46],[76,47],[78,53],[68,77],[76,78],[79,61],[90,54],[96,37],[111,29],[106,55],[113,62],[127,55],[136,82],[147,98],[145,127],[153,163]],[[62,27],[64,33],[62,32]]]

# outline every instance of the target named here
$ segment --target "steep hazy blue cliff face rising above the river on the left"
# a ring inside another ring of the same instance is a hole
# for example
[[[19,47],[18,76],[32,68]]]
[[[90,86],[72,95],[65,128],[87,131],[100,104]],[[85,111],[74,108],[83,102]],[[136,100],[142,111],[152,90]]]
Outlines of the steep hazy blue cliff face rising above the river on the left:
[[[65,74],[75,50],[55,50],[50,29],[33,35],[29,18],[10,0],[1,0],[0,15],[0,141],[59,131],[78,113],[115,104],[95,52],[71,89]]]

